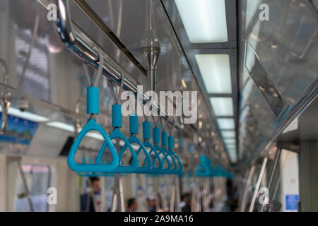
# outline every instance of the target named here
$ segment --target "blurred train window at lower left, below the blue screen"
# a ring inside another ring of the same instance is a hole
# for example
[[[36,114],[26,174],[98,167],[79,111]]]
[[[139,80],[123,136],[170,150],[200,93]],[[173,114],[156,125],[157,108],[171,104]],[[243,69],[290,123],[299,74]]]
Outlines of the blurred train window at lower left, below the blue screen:
[[[51,180],[51,170],[49,165],[21,164],[23,175],[18,168],[15,189],[15,211],[46,212],[47,211],[47,188]],[[28,186],[30,196],[26,192],[25,185]],[[31,207],[32,206],[32,207]]]

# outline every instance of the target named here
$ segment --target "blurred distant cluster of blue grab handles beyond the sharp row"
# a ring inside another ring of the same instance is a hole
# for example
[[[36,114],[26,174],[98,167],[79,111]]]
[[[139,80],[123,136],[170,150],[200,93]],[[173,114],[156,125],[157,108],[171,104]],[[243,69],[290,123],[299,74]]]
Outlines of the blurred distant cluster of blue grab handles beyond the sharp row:
[[[212,160],[204,155],[200,155],[200,162],[196,167],[195,174],[198,177],[234,177],[233,174],[220,167],[220,165],[216,165],[216,169],[214,169]]]

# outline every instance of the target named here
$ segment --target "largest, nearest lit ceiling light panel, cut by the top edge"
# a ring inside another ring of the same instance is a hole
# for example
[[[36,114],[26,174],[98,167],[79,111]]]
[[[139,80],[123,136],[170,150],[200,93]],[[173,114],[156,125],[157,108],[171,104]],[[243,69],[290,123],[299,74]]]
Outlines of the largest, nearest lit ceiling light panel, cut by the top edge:
[[[225,0],[175,0],[192,43],[228,42]]]

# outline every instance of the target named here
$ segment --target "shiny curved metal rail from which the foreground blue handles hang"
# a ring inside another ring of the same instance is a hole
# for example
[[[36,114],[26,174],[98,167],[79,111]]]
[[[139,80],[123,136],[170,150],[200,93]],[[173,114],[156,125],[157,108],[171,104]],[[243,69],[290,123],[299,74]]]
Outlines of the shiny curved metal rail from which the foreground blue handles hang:
[[[69,0],[56,0],[57,4],[57,32],[61,37],[62,42],[71,49],[71,52],[80,57],[83,61],[94,68],[98,68],[99,57],[98,52],[100,52],[105,59],[110,59],[110,56],[102,49],[97,43],[95,43],[88,35],[81,30],[75,23],[71,20],[71,13],[69,9]],[[92,18],[93,20],[93,18]],[[115,66],[112,66],[109,62],[104,60],[102,74],[109,79],[112,79],[115,83],[120,85],[122,79],[122,72]],[[134,93],[137,98],[136,85],[124,78],[124,90],[129,90]],[[148,101],[153,101],[148,96],[143,93],[139,93],[139,96],[143,98],[143,105]],[[167,115],[167,112],[160,109],[157,102],[153,102],[154,112],[160,112],[160,117],[166,119],[170,124],[174,125],[177,129],[184,129],[184,125],[179,124],[175,119]]]

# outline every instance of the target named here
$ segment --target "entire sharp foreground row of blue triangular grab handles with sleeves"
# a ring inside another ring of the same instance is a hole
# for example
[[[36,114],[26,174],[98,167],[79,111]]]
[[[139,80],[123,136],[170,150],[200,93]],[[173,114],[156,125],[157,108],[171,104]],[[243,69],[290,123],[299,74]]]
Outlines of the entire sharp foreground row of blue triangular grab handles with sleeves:
[[[112,105],[112,127],[114,128],[110,136],[94,119],[96,114],[99,114],[99,88],[97,86],[90,86],[87,88],[87,113],[90,114],[90,119],[83,129],[78,133],[67,159],[69,167],[78,172],[81,176],[107,176],[112,174],[177,174],[182,177],[183,166],[182,162],[175,153],[174,137],[167,137],[167,132],[161,132],[161,146],[160,146],[160,129],[153,128],[153,144],[150,142],[151,138],[151,124],[149,121],[143,121],[143,142],[137,138],[139,133],[138,116],[130,115],[129,129],[131,136],[127,139],[120,131],[122,127],[122,105]],[[95,162],[88,163],[83,159],[82,163],[75,161],[75,155],[78,147],[90,131],[98,131],[104,138],[104,143],[95,158]],[[119,153],[112,143],[112,140],[121,139],[124,145],[119,147]],[[132,144],[138,145],[139,148],[134,150]],[[105,150],[110,150],[112,155],[111,162],[104,162],[102,156]],[[147,150],[149,149],[149,151]],[[122,157],[126,150],[129,150],[132,156],[131,164],[128,166],[122,165]],[[146,158],[143,164],[139,166],[138,156],[143,153]],[[152,160],[151,156],[155,156]],[[167,165],[167,167],[165,167]]]

